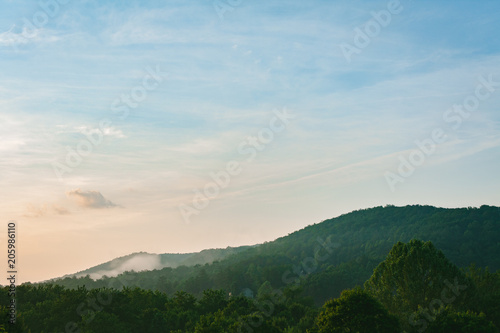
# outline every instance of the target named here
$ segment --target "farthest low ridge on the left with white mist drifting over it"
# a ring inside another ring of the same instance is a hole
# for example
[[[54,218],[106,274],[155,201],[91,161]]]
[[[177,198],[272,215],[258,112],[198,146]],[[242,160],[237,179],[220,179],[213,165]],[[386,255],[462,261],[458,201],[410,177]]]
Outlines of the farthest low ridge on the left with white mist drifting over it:
[[[195,266],[210,264],[215,260],[222,260],[230,255],[240,253],[251,246],[227,247],[225,249],[209,249],[194,253],[164,253],[151,254],[146,252],[132,253],[113,259],[103,264],[91,267],[84,271],[64,276],[81,278],[87,275],[91,279],[114,277],[124,272],[141,272],[162,269],[165,267],[176,268],[179,266]]]

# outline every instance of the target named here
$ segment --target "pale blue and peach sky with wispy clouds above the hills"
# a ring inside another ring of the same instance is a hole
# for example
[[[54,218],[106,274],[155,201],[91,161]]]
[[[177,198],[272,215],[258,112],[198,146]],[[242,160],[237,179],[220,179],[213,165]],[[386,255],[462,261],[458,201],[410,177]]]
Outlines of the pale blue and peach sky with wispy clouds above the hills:
[[[20,282],[375,206],[500,205],[500,2],[0,4]]]

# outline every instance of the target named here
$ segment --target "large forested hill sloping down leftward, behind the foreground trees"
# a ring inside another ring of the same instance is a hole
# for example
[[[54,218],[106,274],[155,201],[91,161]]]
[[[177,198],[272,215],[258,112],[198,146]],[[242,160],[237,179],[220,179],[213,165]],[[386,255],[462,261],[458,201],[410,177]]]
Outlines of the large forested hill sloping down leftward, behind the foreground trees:
[[[212,264],[125,273],[98,281],[66,278],[57,283],[70,288],[125,284],[168,294],[184,290],[199,295],[207,288],[233,294],[251,290],[256,294],[265,283],[282,288],[300,282],[306,295],[321,304],[337,297],[343,289],[362,284],[394,243],[411,239],[432,241],[459,267],[475,263],[499,269],[500,208],[417,205],[363,209]]]

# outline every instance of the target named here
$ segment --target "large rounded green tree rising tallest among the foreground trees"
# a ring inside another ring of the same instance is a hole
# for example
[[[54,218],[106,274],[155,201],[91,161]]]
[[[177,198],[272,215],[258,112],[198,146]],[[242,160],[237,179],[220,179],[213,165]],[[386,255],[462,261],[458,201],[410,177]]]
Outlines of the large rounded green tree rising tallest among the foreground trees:
[[[472,284],[431,242],[398,242],[365,283],[391,313],[416,311],[432,302],[460,306]]]

